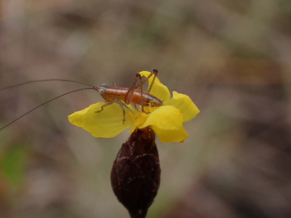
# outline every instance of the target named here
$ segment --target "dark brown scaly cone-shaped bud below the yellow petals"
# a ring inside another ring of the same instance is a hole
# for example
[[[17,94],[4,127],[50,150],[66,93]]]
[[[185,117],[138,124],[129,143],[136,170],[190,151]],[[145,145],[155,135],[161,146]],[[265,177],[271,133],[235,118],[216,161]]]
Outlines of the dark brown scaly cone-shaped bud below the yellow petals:
[[[150,128],[136,129],[120,148],[111,170],[111,186],[132,218],[144,218],[155,198],[161,169]]]

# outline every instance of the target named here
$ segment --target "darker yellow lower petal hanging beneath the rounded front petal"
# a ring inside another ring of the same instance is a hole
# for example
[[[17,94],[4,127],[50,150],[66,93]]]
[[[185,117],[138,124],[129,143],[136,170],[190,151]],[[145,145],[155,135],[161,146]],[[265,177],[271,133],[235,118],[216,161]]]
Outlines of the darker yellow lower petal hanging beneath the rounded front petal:
[[[183,142],[188,137],[183,125],[177,130],[164,130],[156,126],[152,126],[152,129],[157,133],[161,142]]]

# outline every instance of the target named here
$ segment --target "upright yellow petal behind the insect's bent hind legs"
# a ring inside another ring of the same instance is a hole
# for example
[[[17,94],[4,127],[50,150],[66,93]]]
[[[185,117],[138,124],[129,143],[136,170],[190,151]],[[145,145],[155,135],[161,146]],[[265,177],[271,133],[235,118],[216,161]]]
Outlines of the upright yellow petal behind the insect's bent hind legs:
[[[147,77],[148,75],[150,75],[150,72],[142,71],[139,74],[141,74],[141,76]],[[152,83],[153,78],[154,78],[154,76],[151,76],[149,78],[149,80],[148,80],[149,86],[148,87],[150,87],[150,84]],[[143,91],[147,92],[148,90],[145,90],[145,88],[143,88]],[[171,94],[168,90],[168,87],[163,85],[163,83],[161,83],[157,77],[155,78],[154,84],[152,85],[152,88],[150,90],[150,94],[152,94],[153,96],[162,100],[164,104],[167,104],[168,101],[170,100],[170,97],[171,97]]]

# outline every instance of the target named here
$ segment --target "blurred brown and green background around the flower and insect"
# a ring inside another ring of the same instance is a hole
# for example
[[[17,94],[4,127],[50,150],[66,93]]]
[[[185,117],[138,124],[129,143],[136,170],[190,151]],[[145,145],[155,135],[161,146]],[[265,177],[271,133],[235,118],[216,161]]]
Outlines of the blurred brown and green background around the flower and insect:
[[[157,68],[200,109],[184,144],[157,139],[160,189],[147,217],[291,217],[291,1],[2,0],[0,87],[70,79],[129,87]],[[0,92],[0,127],[84,87]],[[110,171],[129,133],[94,138],[67,116],[84,90],[0,131],[0,217],[129,217]]]

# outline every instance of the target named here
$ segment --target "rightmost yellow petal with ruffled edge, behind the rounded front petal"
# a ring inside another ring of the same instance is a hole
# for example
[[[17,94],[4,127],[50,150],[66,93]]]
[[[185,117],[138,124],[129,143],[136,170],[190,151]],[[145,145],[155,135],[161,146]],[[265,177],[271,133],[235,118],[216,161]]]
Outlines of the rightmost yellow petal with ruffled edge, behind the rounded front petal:
[[[180,110],[183,115],[183,122],[193,119],[200,112],[188,95],[175,91],[173,91],[173,97],[168,102],[168,105],[172,105]]]

